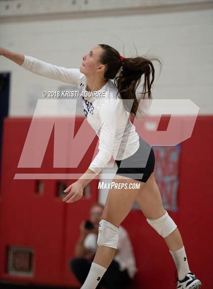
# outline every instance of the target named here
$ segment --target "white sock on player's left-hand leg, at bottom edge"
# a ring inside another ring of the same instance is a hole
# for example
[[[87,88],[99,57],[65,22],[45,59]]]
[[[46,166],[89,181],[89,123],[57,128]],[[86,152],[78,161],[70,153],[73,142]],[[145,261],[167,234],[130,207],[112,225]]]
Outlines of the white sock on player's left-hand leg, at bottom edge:
[[[80,289],[95,289],[105,271],[107,271],[106,268],[92,262],[89,274]]]

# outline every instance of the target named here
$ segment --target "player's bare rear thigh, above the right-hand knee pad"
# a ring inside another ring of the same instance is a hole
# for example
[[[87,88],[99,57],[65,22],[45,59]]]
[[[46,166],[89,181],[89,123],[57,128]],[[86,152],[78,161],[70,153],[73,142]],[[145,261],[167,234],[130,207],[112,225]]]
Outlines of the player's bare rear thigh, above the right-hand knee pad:
[[[136,197],[136,203],[148,219],[157,219],[165,213],[154,172],[145,185],[140,188]]]

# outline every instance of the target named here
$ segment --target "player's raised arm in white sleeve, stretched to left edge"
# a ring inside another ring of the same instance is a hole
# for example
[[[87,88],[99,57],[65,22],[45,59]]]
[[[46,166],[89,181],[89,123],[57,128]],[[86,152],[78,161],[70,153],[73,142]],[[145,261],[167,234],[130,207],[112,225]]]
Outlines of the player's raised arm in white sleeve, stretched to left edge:
[[[16,62],[18,65],[32,73],[77,86],[79,84],[79,79],[84,76],[84,74],[77,68],[59,67],[37,58],[15,53],[4,48],[0,48],[0,55]]]

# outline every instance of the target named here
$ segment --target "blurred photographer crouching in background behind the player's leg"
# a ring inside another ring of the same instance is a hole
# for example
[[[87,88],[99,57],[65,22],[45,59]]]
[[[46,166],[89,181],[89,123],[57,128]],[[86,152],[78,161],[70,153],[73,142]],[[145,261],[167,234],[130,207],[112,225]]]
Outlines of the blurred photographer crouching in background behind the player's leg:
[[[81,284],[84,283],[95,253],[97,251],[98,224],[104,206],[95,203],[90,209],[89,220],[84,220],[80,226],[80,237],[75,248],[75,258],[70,260],[70,270],[75,274]],[[124,289],[134,278],[137,268],[132,244],[127,231],[120,226],[118,249],[114,260],[100,280],[97,288]]]

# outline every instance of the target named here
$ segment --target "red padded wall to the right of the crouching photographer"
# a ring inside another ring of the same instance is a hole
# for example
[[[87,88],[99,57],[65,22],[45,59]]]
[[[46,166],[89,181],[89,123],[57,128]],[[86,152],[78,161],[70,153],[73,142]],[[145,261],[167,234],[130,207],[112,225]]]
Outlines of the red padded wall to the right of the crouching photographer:
[[[203,289],[212,288],[213,272],[212,129],[213,117],[199,116],[191,138],[180,144],[178,210],[168,211],[182,234],[190,270]],[[138,267],[133,288],[176,288],[171,284],[175,280],[171,254],[144,215],[131,211],[122,224],[130,234]]]

